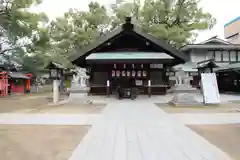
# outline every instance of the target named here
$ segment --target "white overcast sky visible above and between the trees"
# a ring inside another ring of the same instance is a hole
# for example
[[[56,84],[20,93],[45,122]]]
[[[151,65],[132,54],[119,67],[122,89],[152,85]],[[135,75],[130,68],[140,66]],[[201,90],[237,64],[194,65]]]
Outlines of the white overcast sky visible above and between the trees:
[[[55,19],[63,15],[64,12],[67,12],[69,8],[87,10],[90,1],[91,0],[43,0],[41,5],[32,8],[32,10],[34,12],[44,12],[50,19]],[[95,1],[106,6],[116,2],[116,0]],[[200,6],[204,11],[211,13],[217,19],[217,24],[211,30],[199,32],[196,43],[216,35],[218,35],[219,38],[224,38],[224,24],[240,16],[240,0],[202,0]]]

